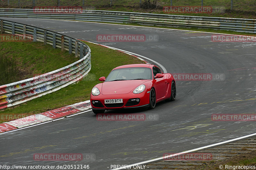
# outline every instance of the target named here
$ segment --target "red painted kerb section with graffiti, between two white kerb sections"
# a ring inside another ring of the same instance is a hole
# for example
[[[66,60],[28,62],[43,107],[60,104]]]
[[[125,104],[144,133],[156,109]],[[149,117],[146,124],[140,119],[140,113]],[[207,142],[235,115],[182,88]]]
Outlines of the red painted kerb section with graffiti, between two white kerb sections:
[[[77,112],[80,112],[80,110],[72,107],[61,107],[59,109],[54,109],[48,112],[40,113],[40,115],[45,115],[49,118],[56,119],[56,118],[71,115]]]

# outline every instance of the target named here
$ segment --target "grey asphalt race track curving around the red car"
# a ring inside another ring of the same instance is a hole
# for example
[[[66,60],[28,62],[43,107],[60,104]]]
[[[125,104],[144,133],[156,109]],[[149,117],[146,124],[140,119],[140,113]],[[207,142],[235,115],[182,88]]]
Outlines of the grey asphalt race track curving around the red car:
[[[89,22],[1,18],[119,48],[161,63],[170,73],[211,73],[210,81],[176,81],[177,99],[144,113],[148,121],[97,121],[90,112],[0,135],[0,164],[89,165],[107,170],[256,133],[255,122],[212,121],[212,114],[256,113],[256,43],[212,42],[182,30]],[[97,42],[99,34],[157,35],[158,41]],[[115,61],[113,61],[115,62]],[[216,76],[217,75],[217,76]],[[218,77],[222,75],[222,79]],[[223,75],[225,79],[223,79]],[[102,75],[107,76],[107,75]],[[96,160],[35,161],[35,153],[92,153]]]

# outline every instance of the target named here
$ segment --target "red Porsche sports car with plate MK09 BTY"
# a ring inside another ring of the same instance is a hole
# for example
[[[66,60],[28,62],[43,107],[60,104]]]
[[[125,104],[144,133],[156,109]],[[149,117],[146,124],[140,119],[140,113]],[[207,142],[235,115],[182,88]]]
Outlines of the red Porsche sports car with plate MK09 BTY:
[[[170,73],[152,64],[129,64],[114,68],[103,83],[92,88],[91,105],[95,114],[108,109],[155,108],[162,100],[176,98],[176,84]]]

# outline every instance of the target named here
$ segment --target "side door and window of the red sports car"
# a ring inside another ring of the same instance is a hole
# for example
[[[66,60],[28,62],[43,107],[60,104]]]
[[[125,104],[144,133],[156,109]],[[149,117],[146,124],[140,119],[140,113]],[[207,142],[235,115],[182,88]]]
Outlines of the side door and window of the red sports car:
[[[153,67],[152,70],[153,70],[154,78],[157,73],[162,74],[162,71],[157,67]],[[156,78],[155,80],[156,80],[156,100],[157,100],[165,96],[168,84],[164,77]]]

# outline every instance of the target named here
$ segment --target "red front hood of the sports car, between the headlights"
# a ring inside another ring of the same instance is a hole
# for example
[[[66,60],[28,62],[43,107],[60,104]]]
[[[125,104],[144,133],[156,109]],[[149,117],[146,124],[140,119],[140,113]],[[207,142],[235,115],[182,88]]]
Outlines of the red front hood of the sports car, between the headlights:
[[[102,83],[101,93],[105,94],[126,94],[139,85],[150,80],[121,80]]]

